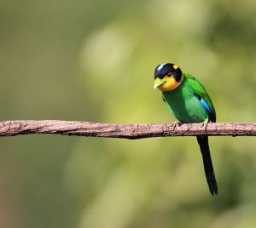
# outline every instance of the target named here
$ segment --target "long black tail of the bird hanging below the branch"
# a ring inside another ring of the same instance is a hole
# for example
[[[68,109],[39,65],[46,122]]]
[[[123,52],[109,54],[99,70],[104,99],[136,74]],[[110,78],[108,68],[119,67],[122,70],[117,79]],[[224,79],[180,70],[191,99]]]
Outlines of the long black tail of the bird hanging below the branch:
[[[196,139],[198,144],[200,145],[209,190],[211,191],[212,196],[217,195],[218,186],[212,166],[212,158],[208,144],[208,136],[197,136]]]

